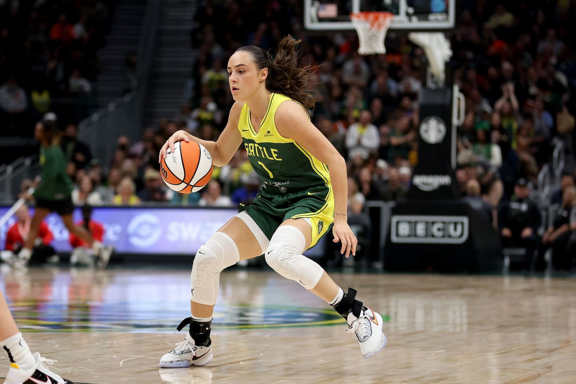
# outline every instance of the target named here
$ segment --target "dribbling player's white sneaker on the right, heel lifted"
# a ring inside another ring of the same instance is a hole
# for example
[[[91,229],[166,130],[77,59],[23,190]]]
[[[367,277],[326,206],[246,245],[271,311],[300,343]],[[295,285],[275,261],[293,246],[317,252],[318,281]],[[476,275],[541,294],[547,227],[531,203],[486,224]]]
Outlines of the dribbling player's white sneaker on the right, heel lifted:
[[[362,306],[360,317],[348,314],[348,333],[356,333],[362,356],[371,358],[386,347],[386,335],[382,332],[382,316]]]

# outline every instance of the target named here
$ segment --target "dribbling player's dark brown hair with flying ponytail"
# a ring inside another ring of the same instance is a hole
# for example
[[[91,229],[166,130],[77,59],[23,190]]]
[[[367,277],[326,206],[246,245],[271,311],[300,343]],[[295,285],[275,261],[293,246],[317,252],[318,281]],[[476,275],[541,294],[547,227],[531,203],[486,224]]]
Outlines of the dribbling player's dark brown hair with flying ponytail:
[[[313,73],[310,64],[305,67],[298,66],[300,50],[297,45],[302,40],[295,40],[288,35],[280,41],[278,53],[272,59],[268,52],[256,45],[247,45],[238,48],[236,52],[245,51],[252,55],[256,68],[268,69],[266,88],[271,92],[282,93],[291,99],[300,102],[304,108],[312,108],[316,104],[316,97],[312,94],[310,75]]]

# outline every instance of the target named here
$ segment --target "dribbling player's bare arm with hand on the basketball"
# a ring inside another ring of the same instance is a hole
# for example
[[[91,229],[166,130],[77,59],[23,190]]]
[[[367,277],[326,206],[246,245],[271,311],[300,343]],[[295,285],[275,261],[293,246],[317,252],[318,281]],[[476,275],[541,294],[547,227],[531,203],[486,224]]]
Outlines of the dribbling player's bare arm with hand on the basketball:
[[[242,136],[240,135],[240,131],[238,131],[238,119],[240,119],[242,105],[244,105],[244,103],[234,102],[232,109],[230,109],[228,124],[226,124],[217,141],[202,140],[185,131],[175,132],[175,134],[166,140],[164,146],[162,146],[160,155],[158,156],[158,162],[161,161],[162,157],[166,157],[166,151],[168,151],[168,149],[171,151],[174,150],[174,143],[184,140],[187,142],[194,141],[206,147],[212,156],[214,166],[224,166],[228,164],[242,143]]]

